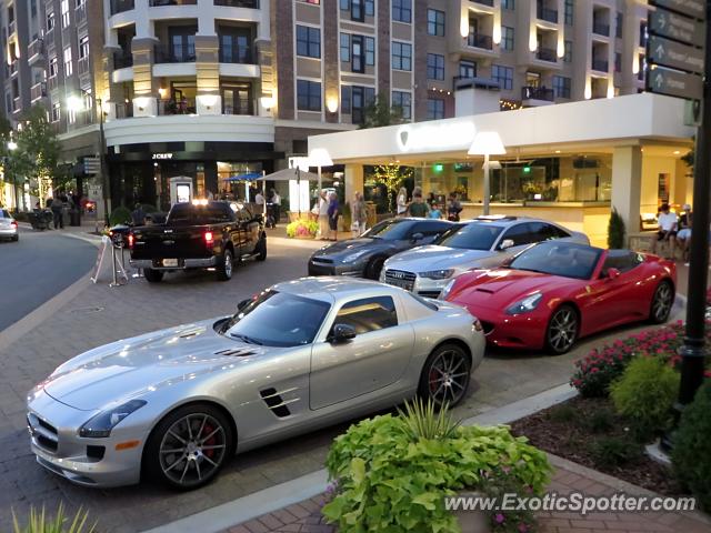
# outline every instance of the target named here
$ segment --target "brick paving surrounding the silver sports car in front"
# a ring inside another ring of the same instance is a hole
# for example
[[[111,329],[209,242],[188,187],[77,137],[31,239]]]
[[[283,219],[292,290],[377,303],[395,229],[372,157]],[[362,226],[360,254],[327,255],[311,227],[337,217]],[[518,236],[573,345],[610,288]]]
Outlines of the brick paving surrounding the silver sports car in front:
[[[348,424],[239,455],[214,483],[198,491],[176,493],[150,482],[88,490],[36,463],[24,422],[27,391],[68,358],[151,329],[233,312],[256,290],[304,275],[309,253],[304,248],[272,243],[266,262],[246,262],[224,283],[216,282],[210,273],[192,273],[168,275],[160,284],[131,280],[119,289],[89,284],[64,312],[0,350],[0,531],[9,529],[11,509],[24,515],[30,505],[56,509],[62,501],[70,510],[88,509],[99,520],[100,531],[134,533],[323,467],[330,443]],[[612,335],[629,332],[618,330]],[[491,354],[477,370],[470,395],[454,416],[469,418],[567,382],[572,362],[603,341],[603,336],[592,338],[559,358]]]

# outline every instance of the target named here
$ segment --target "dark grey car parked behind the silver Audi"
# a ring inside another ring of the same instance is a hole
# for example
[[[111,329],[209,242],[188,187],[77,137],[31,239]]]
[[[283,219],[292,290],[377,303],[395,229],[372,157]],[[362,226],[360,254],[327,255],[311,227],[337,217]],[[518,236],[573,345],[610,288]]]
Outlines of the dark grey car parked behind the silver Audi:
[[[318,250],[309,259],[309,275],[353,275],[377,280],[385,259],[414,247],[431,244],[452,222],[435,219],[388,219],[358,239]]]

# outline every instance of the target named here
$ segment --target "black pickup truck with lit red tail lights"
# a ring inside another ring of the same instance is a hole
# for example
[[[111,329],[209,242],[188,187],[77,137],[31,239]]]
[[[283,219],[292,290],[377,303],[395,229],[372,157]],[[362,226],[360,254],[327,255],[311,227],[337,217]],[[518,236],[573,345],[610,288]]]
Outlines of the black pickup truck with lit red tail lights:
[[[237,203],[177,203],[164,224],[136,227],[127,240],[131,265],[143,269],[151,283],[189,269],[214,269],[218,280],[227,281],[234,261],[267,259],[261,214]]]

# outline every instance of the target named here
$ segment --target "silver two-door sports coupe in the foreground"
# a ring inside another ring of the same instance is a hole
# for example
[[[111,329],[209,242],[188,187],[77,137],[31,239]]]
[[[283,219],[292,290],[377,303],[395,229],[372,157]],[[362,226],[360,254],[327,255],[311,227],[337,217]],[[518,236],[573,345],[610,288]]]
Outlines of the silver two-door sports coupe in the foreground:
[[[37,461],[87,486],[189,490],[236,452],[401,403],[455,405],[484,351],[463,308],[344,278],[279,283],[233,316],[117,341],[28,396]]]

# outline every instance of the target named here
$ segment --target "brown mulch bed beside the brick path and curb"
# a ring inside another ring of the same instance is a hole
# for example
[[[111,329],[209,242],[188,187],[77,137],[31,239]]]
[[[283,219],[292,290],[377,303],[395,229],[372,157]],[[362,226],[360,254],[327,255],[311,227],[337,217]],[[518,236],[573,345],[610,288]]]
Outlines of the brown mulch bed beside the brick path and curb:
[[[594,413],[607,410],[613,421],[604,431],[591,429]],[[554,455],[578,464],[619,477],[650,491],[664,495],[679,495],[684,491],[679,486],[672,472],[642,455],[633,461],[615,466],[603,466],[597,461],[595,444],[605,439],[631,440],[624,420],[614,414],[608,399],[573,398],[564,403],[521,419],[511,424],[515,435],[525,435],[530,442]]]

